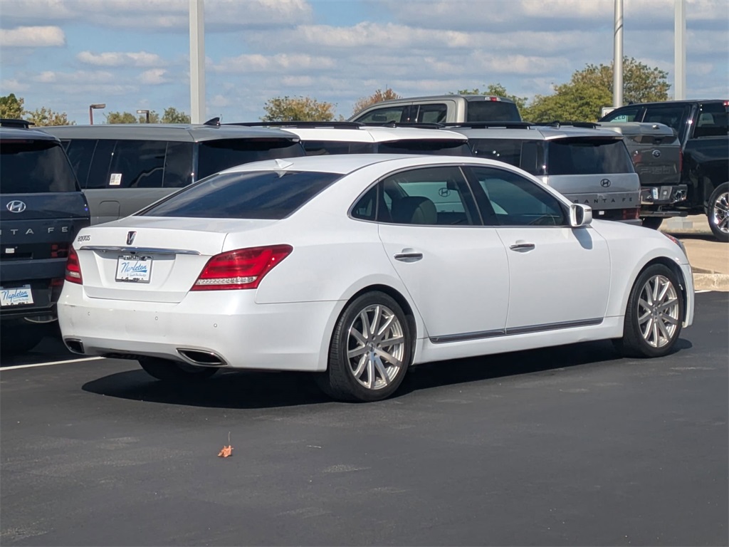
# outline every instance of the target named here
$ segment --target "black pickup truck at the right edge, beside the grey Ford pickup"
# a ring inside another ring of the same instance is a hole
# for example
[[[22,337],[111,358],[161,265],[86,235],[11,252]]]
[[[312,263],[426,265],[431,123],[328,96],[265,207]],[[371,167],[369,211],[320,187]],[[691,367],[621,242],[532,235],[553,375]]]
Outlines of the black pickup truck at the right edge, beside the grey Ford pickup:
[[[714,236],[729,241],[729,101],[664,101],[628,104],[601,122],[662,123],[673,128],[682,150],[680,177],[644,195],[644,225],[667,217],[706,214]]]

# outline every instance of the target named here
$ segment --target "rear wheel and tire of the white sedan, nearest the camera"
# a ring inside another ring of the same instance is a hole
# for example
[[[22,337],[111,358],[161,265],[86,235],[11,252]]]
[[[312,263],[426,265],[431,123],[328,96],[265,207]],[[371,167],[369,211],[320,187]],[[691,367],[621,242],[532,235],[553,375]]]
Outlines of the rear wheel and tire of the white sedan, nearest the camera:
[[[374,325],[367,328],[363,314],[367,322]],[[378,333],[382,318],[389,321],[389,327]],[[351,330],[360,335],[367,331],[367,335],[360,337],[364,341],[358,341],[350,334]],[[348,303],[340,315],[330,342],[329,365],[326,372],[317,376],[317,384],[327,395],[338,400],[386,399],[397,390],[408,372],[412,341],[408,318],[398,303],[384,292],[364,293]],[[350,351],[360,353],[350,357]],[[389,355],[391,360],[383,358],[382,354]]]

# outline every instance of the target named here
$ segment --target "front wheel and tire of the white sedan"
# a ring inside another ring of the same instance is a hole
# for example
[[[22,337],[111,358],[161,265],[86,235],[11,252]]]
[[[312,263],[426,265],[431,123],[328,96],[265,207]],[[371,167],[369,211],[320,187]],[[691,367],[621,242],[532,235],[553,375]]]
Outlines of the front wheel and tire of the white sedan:
[[[649,292],[656,284],[658,303],[651,303],[653,296]],[[641,272],[628,298],[623,338],[615,341],[620,353],[625,357],[662,357],[671,351],[681,335],[684,316],[679,285],[676,274],[663,264],[650,265]],[[665,296],[660,298],[664,289]]]

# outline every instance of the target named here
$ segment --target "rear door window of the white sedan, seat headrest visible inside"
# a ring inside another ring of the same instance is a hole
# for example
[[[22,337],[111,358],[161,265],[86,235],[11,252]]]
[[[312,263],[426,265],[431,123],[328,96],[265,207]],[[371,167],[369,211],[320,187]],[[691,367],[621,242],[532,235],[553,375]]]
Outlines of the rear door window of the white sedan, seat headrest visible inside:
[[[464,175],[456,166],[402,171],[383,179],[380,191],[378,222],[433,226],[480,224]]]

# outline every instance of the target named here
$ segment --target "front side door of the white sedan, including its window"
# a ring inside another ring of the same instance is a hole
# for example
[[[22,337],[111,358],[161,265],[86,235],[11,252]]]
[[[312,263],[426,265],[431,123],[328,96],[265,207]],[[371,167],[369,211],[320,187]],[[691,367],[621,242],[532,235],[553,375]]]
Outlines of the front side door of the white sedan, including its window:
[[[537,182],[496,167],[470,173],[507,252],[507,334],[601,322],[610,290],[607,241],[589,227],[571,228],[566,207]]]

